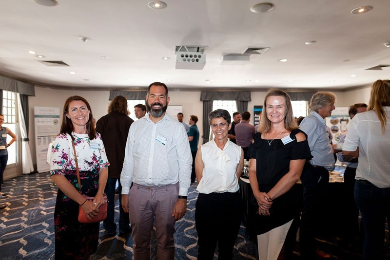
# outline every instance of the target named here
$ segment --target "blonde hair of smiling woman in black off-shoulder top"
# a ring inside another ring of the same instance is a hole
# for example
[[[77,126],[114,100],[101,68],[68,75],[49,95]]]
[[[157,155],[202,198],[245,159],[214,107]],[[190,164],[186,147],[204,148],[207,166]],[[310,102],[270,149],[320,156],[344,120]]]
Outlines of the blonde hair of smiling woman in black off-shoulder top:
[[[267,99],[270,96],[282,96],[284,97],[284,101],[286,102],[286,116],[284,118],[284,127],[288,131],[292,131],[298,129],[298,125],[295,122],[295,118],[292,114],[292,105],[291,98],[289,94],[279,89],[269,89],[267,95],[264,98],[263,111],[261,113],[261,122],[259,127],[259,132],[268,133],[271,130],[271,121],[267,117]]]

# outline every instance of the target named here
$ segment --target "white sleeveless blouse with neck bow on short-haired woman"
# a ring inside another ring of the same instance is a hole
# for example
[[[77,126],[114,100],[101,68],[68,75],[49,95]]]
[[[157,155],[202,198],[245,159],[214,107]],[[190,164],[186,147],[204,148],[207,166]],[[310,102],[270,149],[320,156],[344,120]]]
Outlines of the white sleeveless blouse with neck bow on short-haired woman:
[[[239,189],[236,172],[240,163],[241,147],[228,141],[221,150],[213,139],[200,149],[204,167],[196,190],[204,194],[236,192]]]

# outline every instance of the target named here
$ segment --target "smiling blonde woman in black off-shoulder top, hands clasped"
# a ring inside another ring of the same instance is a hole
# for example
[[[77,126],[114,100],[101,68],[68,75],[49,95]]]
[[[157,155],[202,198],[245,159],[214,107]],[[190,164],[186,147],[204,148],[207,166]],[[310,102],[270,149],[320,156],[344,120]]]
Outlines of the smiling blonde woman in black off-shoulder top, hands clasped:
[[[293,188],[307,159],[307,135],[299,130],[287,93],[270,89],[264,99],[259,133],[249,149],[249,179],[256,207],[259,260],[292,256],[299,220],[299,193]],[[293,224],[292,224],[293,223]]]

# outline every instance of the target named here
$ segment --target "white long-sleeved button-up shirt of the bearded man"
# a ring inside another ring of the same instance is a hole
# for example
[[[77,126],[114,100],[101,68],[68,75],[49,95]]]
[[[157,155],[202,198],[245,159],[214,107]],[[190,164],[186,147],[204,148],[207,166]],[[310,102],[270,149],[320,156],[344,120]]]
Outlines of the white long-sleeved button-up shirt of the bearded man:
[[[128,194],[131,183],[165,186],[179,183],[179,195],[187,196],[191,184],[192,155],[182,124],[165,113],[156,124],[145,117],[134,122],[127,137],[120,183]]]

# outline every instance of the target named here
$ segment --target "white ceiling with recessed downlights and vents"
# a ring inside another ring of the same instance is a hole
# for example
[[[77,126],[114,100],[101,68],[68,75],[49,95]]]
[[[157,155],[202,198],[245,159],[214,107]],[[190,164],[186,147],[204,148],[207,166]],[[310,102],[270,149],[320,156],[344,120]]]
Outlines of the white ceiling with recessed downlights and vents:
[[[339,90],[390,77],[390,67],[365,70],[390,65],[390,0],[270,0],[275,8],[268,13],[250,11],[256,0],[165,0],[162,10],[148,7],[149,0],[58,2],[1,2],[0,74],[49,86],[134,89],[161,81],[189,90]],[[373,8],[351,14],[363,5]],[[176,45],[206,46],[203,70],[175,69]],[[222,62],[247,47],[270,49]]]

